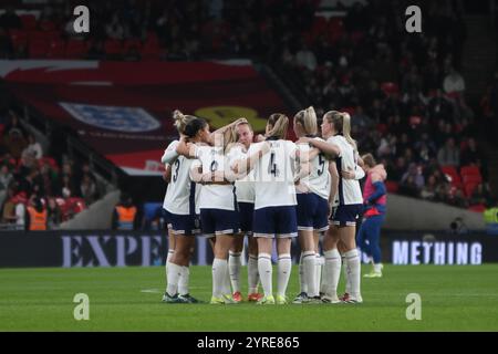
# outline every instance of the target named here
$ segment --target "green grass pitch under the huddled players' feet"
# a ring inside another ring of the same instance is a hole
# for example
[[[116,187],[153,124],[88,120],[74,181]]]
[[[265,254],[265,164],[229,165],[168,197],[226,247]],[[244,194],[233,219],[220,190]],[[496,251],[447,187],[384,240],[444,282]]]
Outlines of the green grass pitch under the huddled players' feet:
[[[209,301],[210,268],[190,274],[190,293]],[[242,280],[246,292],[245,267]],[[0,331],[498,331],[498,264],[386,266],[362,279],[359,305],[165,304],[164,281],[164,267],[2,269]],[[76,293],[90,298],[89,321],[73,317]],[[408,293],[422,298],[421,321],[406,319]]]

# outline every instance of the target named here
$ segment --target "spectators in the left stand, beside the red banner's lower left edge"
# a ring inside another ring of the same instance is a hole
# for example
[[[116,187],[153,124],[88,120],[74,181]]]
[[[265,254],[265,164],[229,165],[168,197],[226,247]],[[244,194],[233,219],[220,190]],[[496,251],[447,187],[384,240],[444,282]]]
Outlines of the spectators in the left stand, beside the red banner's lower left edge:
[[[100,198],[89,163],[65,159],[60,166],[13,111],[0,116],[0,225],[30,228],[30,207],[39,208],[48,229],[58,227]]]

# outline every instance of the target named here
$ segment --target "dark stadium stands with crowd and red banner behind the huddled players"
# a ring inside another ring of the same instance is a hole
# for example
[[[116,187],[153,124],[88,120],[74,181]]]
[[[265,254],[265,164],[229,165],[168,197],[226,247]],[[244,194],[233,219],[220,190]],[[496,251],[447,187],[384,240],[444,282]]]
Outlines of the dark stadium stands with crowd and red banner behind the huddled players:
[[[491,254],[495,1],[360,2],[2,1],[3,242],[22,232],[12,210],[33,196],[52,230],[112,233],[116,191],[141,210],[136,232],[160,235],[158,160],[175,138],[173,110],[212,127],[247,116],[261,132],[269,114],[313,105],[319,116],[350,112],[360,152],[386,166],[386,235],[458,242],[465,233]],[[79,4],[90,8],[90,33],[71,30]],[[422,33],[405,30],[411,4],[422,9]],[[30,155],[30,133],[41,158]]]

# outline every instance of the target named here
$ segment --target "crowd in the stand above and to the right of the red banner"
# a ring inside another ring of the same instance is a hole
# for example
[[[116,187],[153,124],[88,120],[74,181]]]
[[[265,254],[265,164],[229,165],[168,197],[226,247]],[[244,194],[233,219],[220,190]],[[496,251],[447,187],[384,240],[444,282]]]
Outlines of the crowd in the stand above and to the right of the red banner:
[[[494,200],[476,124],[483,114],[496,121],[498,80],[483,112],[470,108],[459,73],[461,9],[454,1],[419,2],[429,15],[424,32],[411,35],[400,15],[407,1],[356,3],[339,9],[345,17],[330,18],[317,15],[318,0],[87,1],[87,35],[73,32],[75,2],[46,4],[38,19],[8,7],[0,56],[252,58],[274,67],[320,116],[350,112],[360,149],[386,166],[391,191],[483,210]]]

